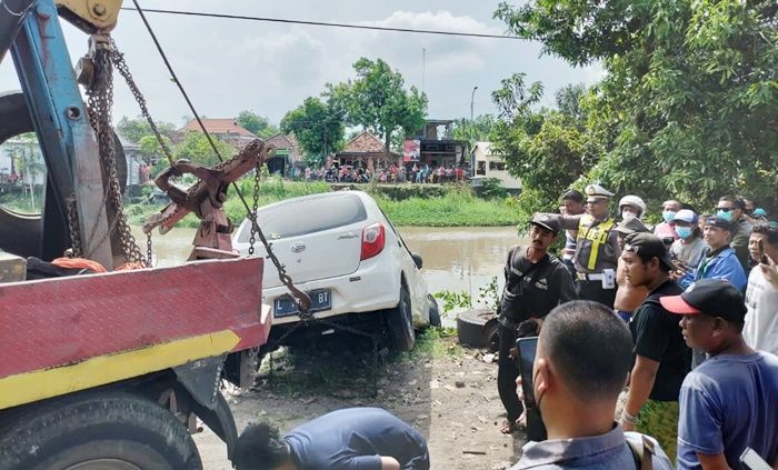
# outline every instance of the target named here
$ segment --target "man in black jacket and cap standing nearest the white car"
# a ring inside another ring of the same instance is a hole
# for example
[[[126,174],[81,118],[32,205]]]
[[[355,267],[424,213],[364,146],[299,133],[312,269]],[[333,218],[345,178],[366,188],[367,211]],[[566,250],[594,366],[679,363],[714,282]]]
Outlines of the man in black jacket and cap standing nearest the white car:
[[[516,347],[517,329],[522,324],[537,333],[548,312],[560,303],[576,299],[572,279],[565,264],[548,252],[561,226],[552,214],[536,213],[530,222],[528,247],[516,246],[508,252],[505,268],[506,284],[500,301],[498,334],[500,338],[497,389],[505,406],[507,419],[500,429],[511,433],[518,429],[523,407],[516,393],[519,369],[511,359]],[[529,323],[537,324],[529,324]]]

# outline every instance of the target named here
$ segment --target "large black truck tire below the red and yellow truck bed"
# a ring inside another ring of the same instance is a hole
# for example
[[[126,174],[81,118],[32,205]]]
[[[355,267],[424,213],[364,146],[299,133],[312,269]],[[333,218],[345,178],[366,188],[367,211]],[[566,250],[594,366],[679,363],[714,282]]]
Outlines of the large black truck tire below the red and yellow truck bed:
[[[0,438],[2,470],[202,470],[168,410],[130,393],[80,393],[22,413]]]

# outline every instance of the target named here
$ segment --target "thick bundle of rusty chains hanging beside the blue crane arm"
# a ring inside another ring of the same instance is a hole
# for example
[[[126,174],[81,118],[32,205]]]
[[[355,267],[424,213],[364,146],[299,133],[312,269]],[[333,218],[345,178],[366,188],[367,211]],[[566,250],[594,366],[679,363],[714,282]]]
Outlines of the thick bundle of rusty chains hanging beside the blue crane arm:
[[[121,250],[129,262],[143,262],[143,256],[130,231],[130,224],[124,217],[124,202],[117,172],[113,128],[111,126],[111,109],[113,107],[113,77],[111,67],[111,40],[109,37],[92,37],[94,44],[94,77],[87,88],[89,122],[97,134],[100,159],[103,168],[104,193],[103,200],[113,209],[113,220],[110,229],[99,243],[86,247],[84,256],[89,258],[93,250],[118,231]],[[97,229],[96,221],[92,232]],[[90,238],[91,239],[91,238]]]

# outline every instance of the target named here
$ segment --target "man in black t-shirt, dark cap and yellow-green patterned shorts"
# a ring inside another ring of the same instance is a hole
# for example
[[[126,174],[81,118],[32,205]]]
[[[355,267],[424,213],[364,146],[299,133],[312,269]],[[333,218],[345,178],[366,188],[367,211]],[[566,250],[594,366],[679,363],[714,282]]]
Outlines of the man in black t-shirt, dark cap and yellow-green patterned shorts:
[[[662,308],[660,299],[679,294],[681,289],[670,280],[672,262],[659,237],[651,233],[628,236],[621,259],[627,282],[649,291],[629,323],[635,366],[621,426],[627,431],[652,436],[672,459],[676,454],[678,392],[690,369],[691,351],[684,343],[678,319]]]

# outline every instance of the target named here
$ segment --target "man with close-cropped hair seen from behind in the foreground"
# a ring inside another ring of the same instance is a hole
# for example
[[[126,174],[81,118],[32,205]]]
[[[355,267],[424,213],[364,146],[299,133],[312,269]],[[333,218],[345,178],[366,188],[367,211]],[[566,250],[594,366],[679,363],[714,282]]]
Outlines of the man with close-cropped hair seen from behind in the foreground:
[[[627,326],[600,303],[568,302],[548,314],[531,384],[548,440],[525,444],[511,470],[637,469],[641,458],[655,470],[672,468],[656,440],[614,422],[631,349]]]

